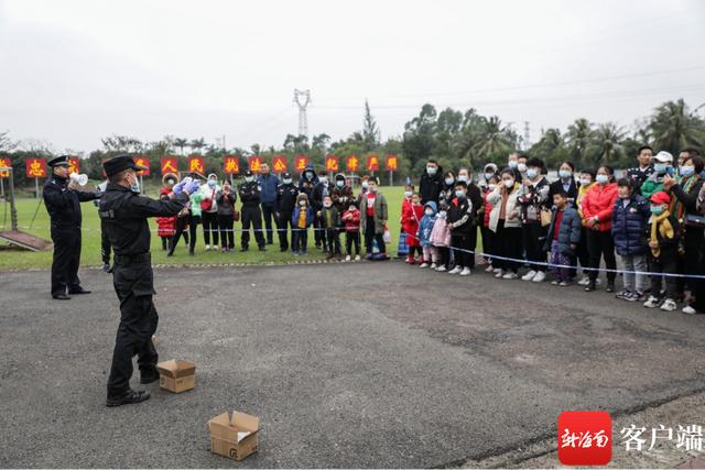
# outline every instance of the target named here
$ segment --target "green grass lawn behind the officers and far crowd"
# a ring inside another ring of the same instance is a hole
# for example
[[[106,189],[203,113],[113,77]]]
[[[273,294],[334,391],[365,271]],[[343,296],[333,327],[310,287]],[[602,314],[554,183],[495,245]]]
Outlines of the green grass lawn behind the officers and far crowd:
[[[389,203],[389,229],[392,236],[392,243],[388,247],[388,252],[392,255],[397,254],[397,244],[399,242],[399,217],[401,211],[401,200],[403,198],[403,187],[381,187],[381,193],[387,196]],[[357,193],[357,192],[356,192]],[[10,206],[4,201],[0,208],[0,223],[6,221],[6,229],[10,228]],[[37,199],[22,198],[18,199],[18,225],[20,230],[51,240],[50,223],[46,208],[42,204],[36,212],[36,219],[32,223],[32,217],[37,208]],[[97,208],[93,203],[82,204],[84,217],[83,231],[83,250],[80,264],[84,266],[101,265],[100,260],[100,222],[98,219]],[[7,217],[7,218],[6,218]],[[30,229],[32,225],[32,229]],[[156,223],[150,221],[152,228],[156,229]],[[236,223],[236,228],[241,228],[240,223]],[[341,236],[340,242],[345,250],[345,236]],[[236,233],[236,250],[239,249],[240,233]],[[252,244],[252,243],[251,243]],[[294,256],[291,252],[282,253],[279,251],[276,236],[274,236],[274,244],[268,245],[267,252],[262,253],[254,248],[246,253],[232,251],[230,253],[220,253],[214,251],[205,251],[203,243],[203,232],[198,229],[198,242],[196,244],[196,255],[189,256],[183,240],[180,241],[178,248],[174,256],[166,258],[162,251],[161,240],[156,233],[152,233],[152,262],[154,264],[228,264],[228,263],[248,263],[248,264],[267,264],[267,263],[285,263],[303,260],[321,260],[325,258],[319,250],[313,247],[313,232],[308,234],[308,255]],[[362,247],[364,250],[364,247]],[[0,240],[0,270],[25,269],[25,267],[50,267],[52,264],[52,252],[31,252],[14,249],[7,244],[4,240]]]

